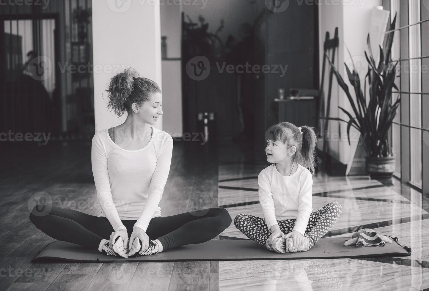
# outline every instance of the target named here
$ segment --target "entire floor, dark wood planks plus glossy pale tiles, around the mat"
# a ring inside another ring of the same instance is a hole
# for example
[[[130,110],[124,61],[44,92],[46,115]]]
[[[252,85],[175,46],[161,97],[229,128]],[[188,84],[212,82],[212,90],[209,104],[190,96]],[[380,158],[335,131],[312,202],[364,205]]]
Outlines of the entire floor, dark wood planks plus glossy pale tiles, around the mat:
[[[50,237],[29,221],[34,197],[96,214],[91,143],[1,145],[0,290],[422,290],[429,288],[429,213],[421,194],[368,177],[314,177],[313,208],[336,200],[340,219],[326,237],[373,228],[399,237],[411,257],[33,264]],[[262,153],[247,146],[175,143],[160,207],[163,216],[221,205],[231,217],[262,217],[257,175]],[[40,193],[44,192],[44,193]],[[255,204],[256,203],[256,204]],[[245,238],[234,225],[220,239]],[[218,239],[218,238],[217,238]]]

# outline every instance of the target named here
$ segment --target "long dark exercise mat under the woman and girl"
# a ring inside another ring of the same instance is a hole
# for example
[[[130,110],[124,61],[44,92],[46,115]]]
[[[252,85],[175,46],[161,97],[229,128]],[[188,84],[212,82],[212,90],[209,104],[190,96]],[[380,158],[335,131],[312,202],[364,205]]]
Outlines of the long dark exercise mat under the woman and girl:
[[[278,254],[269,252],[253,240],[209,240],[205,243],[181,246],[155,255],[122,258],[78,246],[73,243],[55,241],[48,244],[33,261],[61,260],[76,262],[114,261],[240,261],[279,259],[321,259],[321,258],[373,258],[409,256],[402,246],[393,241],[381,247],[344,246],[345,237],[321,238],[307,252]]]

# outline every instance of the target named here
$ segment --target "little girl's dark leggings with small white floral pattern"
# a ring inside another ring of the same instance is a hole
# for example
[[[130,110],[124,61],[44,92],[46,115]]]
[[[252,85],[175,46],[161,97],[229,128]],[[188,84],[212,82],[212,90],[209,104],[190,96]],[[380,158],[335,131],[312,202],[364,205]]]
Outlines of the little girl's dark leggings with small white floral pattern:
[[[310,246],[314,246],[320,237],[323,237],[335,224],[341,214],[341,205],[337,201],[332,201],[317,211],[310,214],[307,229],[304,236],[310,241]],[[295,226],[295,219],[278,220],[278,226],[284,234],[292,232]],[[271,235],[265,219],[244,213],[237,214],[234,225],[246,237],[265,246],[265,241]]]

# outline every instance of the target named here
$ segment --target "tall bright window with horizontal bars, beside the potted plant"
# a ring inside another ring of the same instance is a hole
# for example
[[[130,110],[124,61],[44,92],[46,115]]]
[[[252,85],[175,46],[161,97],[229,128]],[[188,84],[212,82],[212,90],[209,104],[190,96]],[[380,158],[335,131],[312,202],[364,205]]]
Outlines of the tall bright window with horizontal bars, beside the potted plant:
[[[422,112],[422,103],[427,104],[423,98],[429,98],[429,92],[422,91],[429,63],[429,53],[422,47],[422,35],[429,34],[429,0],[384,0],[383,4],[384,9],[390,9],[392,19],[397,13],[392,59],[399,60],[396,80],[399,91],[394,90],[392,100],[400,94],[401,106],[391,130],[393,153],[396,155],[395,174],[403,183],[429,189],[426,185],[429,177],[422,179],[423,173],[429,170],[429,165],[422,162],[422,153],[427,153],[429,147],[422,142],[422,133],[428,134],[422,128],[423,124],[429,122],[426,120],[428,114]]]

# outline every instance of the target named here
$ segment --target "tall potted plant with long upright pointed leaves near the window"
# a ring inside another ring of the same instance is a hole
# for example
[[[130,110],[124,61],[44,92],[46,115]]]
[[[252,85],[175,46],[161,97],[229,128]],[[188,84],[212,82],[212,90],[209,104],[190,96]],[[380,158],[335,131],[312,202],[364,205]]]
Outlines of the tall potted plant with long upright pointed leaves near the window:
[[[328,118],[329,120],[339,120],[347,123],[347,137],[350,144],[350,128],[353,126],[357,129],[361,137],[364,138],[364,147],[366,151],[366,171],[372,178],[386,179],[391,178],[395,170],[395,157],[392,153],[392,147],[389,144],[388,133],[392,126],[393,119],[396,116],[396,109],[400,104],[400,96],[392,102],[392,88],[397,91],[398,87],[395,84],[396,65],[398,61],[393,63],[391,59],[391,47],[393,42],[393,34],[396,23],[396,15],[393,18],[387,33],[384,48],[380,49],[380,59],[376,64],[372,51],[369,34],[367,37],[368,54],[365,52],[366,60],[369,64],[368,73],[364,79],[364,89],[361,88],[360,78],[356,71],[356,66],[353,63],[353,71],[344,63],[347,71],[347,77],[350,84],[353,86],[356,101],[352,98],[347,84],[345,84],[338,70],[329,60],[332,66],[335,77],[340,87],[346,94],[352,112],[338,106],[343,111],[349,120],[341,118]],[[347,49],[348,51],[348,49]],[[350,51],[349,51],[350,54]],[[350,54],[351,58],[351,54]],[[369,98],[367,99],[366,84],[368,79]]]

